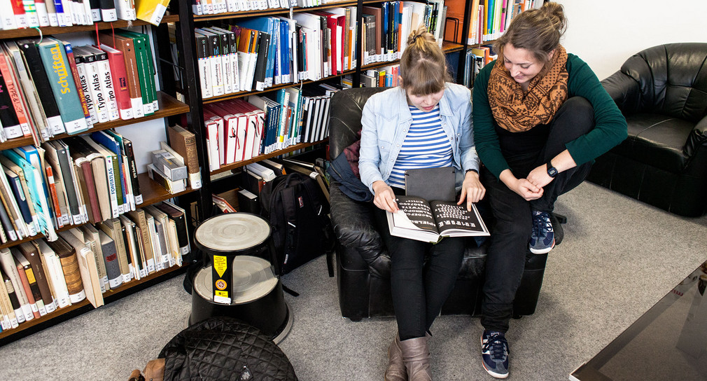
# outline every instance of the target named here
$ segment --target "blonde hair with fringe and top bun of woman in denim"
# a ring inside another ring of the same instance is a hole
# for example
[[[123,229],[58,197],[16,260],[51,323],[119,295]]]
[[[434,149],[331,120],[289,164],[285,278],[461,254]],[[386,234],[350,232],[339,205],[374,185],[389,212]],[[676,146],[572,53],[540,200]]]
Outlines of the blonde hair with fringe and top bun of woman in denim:
[[[447,60],[432,33],[420,25],[407,37],[407,47],[400,58],[402,88],[413,95],[438,93],[451,81]]]

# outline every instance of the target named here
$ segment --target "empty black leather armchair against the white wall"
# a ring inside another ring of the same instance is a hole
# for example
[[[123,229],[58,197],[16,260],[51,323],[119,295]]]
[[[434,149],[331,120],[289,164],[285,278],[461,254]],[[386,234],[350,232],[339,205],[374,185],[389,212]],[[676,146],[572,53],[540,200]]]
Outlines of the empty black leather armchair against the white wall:
[[[597,158],[588,180],[681,216],[707,210],[707,44],[634,54],[602,81],[629,137]]]

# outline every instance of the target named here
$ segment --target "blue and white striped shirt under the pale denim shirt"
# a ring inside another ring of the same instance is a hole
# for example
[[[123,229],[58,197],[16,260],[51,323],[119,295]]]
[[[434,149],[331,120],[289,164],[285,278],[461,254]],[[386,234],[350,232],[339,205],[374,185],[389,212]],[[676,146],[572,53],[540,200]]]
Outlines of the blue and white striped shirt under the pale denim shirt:
[[[431,112],[410,106],[410,113],[412,124],[388,178],[392,187],[405,187],[406,170],[452,165],[452,144],[442,128],[440,106]]]

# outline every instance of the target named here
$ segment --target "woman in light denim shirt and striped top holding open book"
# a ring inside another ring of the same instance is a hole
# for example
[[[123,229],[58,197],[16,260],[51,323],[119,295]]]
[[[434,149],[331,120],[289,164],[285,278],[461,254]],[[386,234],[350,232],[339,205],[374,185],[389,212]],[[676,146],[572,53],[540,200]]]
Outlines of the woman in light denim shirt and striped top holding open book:
[[[436,245],[390,235],[386,211],[397,211],[404,171],[454,167],[459,204],[484,197],[471,126],[471,93],[450,83],[445,56],[421,26],[408,37],[400,59],[399,86],[371,96],[361,117],[361,181],[375,195],[375,220],[390,253],[390,288],[398,334],[388,348],[387,381],[431,380],[427,338],[454,288],[464,240]],[[423,270],[423,263],[428,263]]]

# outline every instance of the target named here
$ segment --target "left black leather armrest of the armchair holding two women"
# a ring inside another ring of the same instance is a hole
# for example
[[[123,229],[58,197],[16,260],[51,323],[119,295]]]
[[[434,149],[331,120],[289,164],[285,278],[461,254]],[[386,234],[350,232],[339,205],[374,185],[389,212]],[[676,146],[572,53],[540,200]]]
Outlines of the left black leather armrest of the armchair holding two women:
[[[384,276],[390,272],[390,258],[382,255],[385,247],[375,230],[373,206],[370,202],[350,199],[332,182],[329,188],[334,235],[341,245],[356,250],[368,264],[371,274]]]

